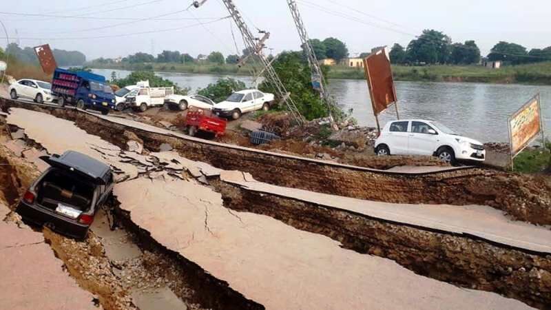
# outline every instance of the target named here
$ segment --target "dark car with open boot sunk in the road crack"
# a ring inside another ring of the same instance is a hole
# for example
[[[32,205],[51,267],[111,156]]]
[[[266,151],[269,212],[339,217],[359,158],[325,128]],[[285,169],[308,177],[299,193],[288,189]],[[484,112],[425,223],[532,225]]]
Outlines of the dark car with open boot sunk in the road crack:
[[[25,192],[17,213],[28,222],[85,238],[96,211],[112,193],[110,166],[74,151],[41,159],[50,167]]]

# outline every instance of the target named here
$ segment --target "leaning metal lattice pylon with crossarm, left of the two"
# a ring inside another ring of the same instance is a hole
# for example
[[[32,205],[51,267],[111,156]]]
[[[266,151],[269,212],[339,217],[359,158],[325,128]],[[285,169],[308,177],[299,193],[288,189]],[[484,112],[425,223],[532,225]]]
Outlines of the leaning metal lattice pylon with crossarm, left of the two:
[[[194,6],[198,8],[205,2],[206,0],[195,1]],[[241,36],[245,42],[245,48],[253,52],[258,57],[260,63],[262,63],[262,66],[264,67],[266,79],[273,84],[275,90],[277,90],[278,95],[287,105],[287,109],[295,121],[297,121],[300,125],[303,125],[305,122],[304,116],[300,114],[295,102],[291,98],[291,93],[287,92],[287,89],[281,82],[277,72],[273,69],[270,61],[266,58],[266,56],[264,56],[264,48],[266,47],[265,42],[269,39],[270,33],[266,31],[259,31],[260,34],[262,34],[262,38],[256,38],[251,30],[249,30],[247,23],[245,23],[245,20],[242,18],[241,13],[238,11],[235,4],[233,4],[233,1],[222,0],[222,2],[226,6],[231,18],[233,18],[233,21],[236,23],[239,31],[241,32]]]

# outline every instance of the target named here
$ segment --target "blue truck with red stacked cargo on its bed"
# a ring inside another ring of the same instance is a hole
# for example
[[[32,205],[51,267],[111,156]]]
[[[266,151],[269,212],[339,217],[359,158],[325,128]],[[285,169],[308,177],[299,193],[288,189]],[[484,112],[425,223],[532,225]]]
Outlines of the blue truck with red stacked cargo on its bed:
[[[52,94],[61,107],[70,104],[81,110],[97,110],[108,114],[115,109],[115,94],[105,76],[86,71],[72,72],[57,68],[52,80]]]

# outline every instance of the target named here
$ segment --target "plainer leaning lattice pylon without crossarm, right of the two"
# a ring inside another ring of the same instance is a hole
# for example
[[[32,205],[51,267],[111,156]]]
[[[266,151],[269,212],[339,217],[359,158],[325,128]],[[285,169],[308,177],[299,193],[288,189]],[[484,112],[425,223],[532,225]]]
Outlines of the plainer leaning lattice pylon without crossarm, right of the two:
[[[320,98],[327,105],[327,110],[329,112],[331,123],[334,123],[333,110],[335,110],[336,108],[336,103],[333,101],[333,99],[331,99],[331,97],[329,96],[329,92],[325,87],[326,85],[322,68],[320,68],[320,63],[318,63],[318,57],[315,56],[314,49],[312,47],[312,44],[310,43],[310,38],[308,37],[308,32],[306,32],[306,27],[304,27],[302,17],[300,17],[297,3],[295,2],[295,0],[287,0],[287,4],[289,4],[289,9],[291,10],[291,15],[293,16],[293,20],[295,21],[295,25],[297,26],[300,41],[302,41],[302,49],[304,50],[304,54],[306,54],[306,58],[308,59],[308,63],[310,65],[312,87],[314,88],[314,90],[317,90],[320,93]]]

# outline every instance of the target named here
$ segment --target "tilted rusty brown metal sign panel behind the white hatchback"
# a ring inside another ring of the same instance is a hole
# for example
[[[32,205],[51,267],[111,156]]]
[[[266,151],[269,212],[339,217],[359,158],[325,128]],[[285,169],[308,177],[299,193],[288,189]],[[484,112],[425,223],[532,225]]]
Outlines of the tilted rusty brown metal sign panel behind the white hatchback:
[[[388,49],[378,50],[364,59],[371,104],[375,116],[397,101]]]

